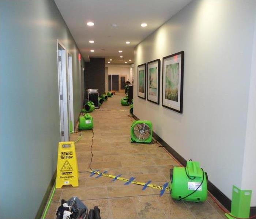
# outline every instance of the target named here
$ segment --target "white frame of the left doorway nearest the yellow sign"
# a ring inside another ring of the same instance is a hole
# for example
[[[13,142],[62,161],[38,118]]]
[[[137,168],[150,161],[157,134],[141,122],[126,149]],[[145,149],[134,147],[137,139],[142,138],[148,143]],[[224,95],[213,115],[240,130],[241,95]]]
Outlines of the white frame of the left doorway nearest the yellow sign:
[[[60,69],[59,69],[59,45],[61,49],[61,79],[62,91],[60,88]],[[58,87],[59,87],[59,113],[60,113],[60,141],[69,141],[69,124],[68,124],[68,101],[67,101],[67,50],[66,47],[57,39],[57,70],[58,70]],[[61,96],[62,95],[62,96]],[[63,105],[63,112],[61,110]],[[61,127],[61,114],[63,114],[63,128]]]

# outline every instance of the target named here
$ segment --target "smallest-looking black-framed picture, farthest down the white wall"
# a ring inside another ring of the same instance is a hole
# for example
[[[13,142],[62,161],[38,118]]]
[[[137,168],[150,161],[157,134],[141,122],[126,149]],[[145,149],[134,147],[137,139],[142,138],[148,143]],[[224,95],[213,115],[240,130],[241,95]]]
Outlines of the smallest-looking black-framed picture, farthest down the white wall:
[[[147,64],[138,65],[138,97],[146,100]]]

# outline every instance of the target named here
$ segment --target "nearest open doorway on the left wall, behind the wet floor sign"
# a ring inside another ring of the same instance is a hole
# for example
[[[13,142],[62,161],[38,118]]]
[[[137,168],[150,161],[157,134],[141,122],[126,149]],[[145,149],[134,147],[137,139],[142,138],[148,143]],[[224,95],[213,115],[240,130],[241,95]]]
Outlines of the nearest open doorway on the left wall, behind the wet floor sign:
[[[57,39],[61,141],[69,140],[66,55],[65,47]]]

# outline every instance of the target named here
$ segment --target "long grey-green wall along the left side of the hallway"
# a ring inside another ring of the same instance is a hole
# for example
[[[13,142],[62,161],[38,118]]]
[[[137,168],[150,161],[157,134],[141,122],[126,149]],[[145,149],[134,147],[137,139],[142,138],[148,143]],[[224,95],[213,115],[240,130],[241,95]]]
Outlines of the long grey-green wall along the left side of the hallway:
[[[60,141],[58,38],[73,57],[74,117],[82,107],[78,49],[52,0],[0,1],[0,218],[34,218]]]

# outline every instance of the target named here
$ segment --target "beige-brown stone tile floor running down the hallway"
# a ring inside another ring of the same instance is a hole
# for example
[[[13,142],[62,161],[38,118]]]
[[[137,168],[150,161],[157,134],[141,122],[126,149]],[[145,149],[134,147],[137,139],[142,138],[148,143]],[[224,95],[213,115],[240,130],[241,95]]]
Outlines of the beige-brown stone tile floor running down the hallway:
[[[135,177],[137,181],[163,185],[168,182],[169,169],[178,165],[162,147],[157,144],[130,143],[129,107],[121,106],[123,93],[109,98],[100,110],[91,113],[94,118],[93,169],[109,174],[122,174],[124,178]],[[112,111],[123,110],[123,111]],[[71,141],[79,134],[72,134]],[[80,171],[89,170],[91,160],[92,131],[82,131],[82,138],[76,143],[78,167]],[[142,191],[140,185],[124,185],[123,181],[112,182],[111,178],[80,173],[79,187],[65,186],[56,189],[47,219],[56,218],[56,210],[61,199],[78,196],[89,208],[97,205],[101,218],[105,219],[144,219],[144,218],[180,218],[180,219],[222,219],[223,212],[210,197],[204,203],[191,203],[171,199],[168,192],[161,197],[159,190],[147,188]]]

